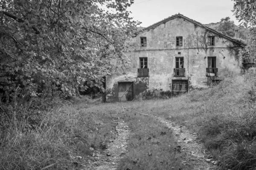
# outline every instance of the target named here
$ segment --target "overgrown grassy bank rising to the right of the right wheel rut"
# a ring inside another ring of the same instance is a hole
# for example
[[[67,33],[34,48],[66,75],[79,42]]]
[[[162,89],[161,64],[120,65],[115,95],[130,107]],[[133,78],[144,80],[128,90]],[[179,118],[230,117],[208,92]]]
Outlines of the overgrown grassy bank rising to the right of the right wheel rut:
[[[156,104],[152,113],[198,132],[220,170],[256,168],[256,72]],[[151,103],[151,105],[153,105]]]

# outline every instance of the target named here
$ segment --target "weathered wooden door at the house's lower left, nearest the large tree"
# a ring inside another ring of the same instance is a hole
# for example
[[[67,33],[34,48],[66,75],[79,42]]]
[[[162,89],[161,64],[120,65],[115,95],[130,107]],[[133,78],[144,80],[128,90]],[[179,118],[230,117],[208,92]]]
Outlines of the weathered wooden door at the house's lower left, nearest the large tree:
[[[133,82],[118,82],[119,101],[133,100]]]

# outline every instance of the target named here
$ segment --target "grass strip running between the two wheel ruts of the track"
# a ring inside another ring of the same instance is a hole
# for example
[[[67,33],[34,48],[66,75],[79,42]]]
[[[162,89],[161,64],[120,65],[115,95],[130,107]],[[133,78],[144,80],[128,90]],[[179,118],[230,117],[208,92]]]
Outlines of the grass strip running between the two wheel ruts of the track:
[[[131,103],[134,108],[136,103]],[[135,115],[136,113],[136,115]],[[172,130],[155,117],[135,111],[128,119],[131,135],[129,152],[121,159],[119,170],[169,170],[179,168],[180,155],[174,151],[176,145]]]

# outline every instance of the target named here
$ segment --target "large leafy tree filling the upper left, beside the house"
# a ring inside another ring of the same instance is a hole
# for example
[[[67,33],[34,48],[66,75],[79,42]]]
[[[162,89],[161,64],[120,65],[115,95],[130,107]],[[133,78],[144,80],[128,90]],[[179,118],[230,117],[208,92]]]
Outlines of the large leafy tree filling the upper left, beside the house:
[[[38,96],[42,85],[57,85],[72,96],[78,88],[101,86],[112,58],[128,63],[125,40],[139,24],[126,10],[132,3],[1,0],[0,91],[25,98]]]

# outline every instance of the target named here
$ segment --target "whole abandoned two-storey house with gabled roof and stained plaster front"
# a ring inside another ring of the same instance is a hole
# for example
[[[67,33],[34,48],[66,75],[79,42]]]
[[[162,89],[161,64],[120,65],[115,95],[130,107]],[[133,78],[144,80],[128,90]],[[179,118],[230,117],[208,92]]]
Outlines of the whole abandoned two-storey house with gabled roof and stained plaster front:
[[[227,75],[240,74],[245,46],[182,14],[175,14],[128,40],[129,67],[106,77],[107,101],[170,96],[207,88]]]

